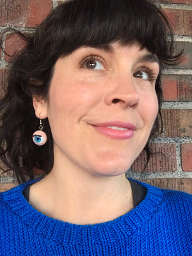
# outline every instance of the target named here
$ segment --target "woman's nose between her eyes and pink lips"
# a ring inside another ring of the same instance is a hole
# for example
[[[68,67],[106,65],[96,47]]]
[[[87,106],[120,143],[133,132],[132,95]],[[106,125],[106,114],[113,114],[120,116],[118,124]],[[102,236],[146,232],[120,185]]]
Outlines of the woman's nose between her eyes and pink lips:
[[[139,94],[133,77],[116,76],[109,78],[109,87],[104,99],[107,105],[120,104],[122,107],[136,107]]]

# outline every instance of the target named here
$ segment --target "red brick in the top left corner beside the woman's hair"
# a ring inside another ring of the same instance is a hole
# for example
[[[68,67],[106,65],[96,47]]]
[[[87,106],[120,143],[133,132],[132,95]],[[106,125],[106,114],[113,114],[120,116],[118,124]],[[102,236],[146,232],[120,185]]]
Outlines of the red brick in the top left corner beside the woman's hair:
[[[1,0],[0,25],[33,28],[51,12],[51,0]]]

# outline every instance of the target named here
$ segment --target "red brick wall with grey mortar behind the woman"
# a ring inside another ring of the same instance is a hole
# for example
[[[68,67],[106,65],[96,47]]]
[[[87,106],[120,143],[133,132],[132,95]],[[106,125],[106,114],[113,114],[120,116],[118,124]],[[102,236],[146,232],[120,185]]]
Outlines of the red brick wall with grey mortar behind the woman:
[[[64,1],[64,0],[63,0]],[[154,156],[145,172],[141,172],[141,155],[127,176],[144,180],[158,187],[192,193],[192,0],[153,0],[164,10],[173,26],[177,49],[184,48],[184,61],[177,67],[163,71],[163,134],[152,148]],[[57,0],[1,0],[0,32],[6,26],[14,26],[26,33],[34,31]],[[10,55],[23,46],[19,38],[8,38],[5,48]],[[0,51],[0,95],[6,84],[6,66],[10,57]],[[11,175],[1,176],[0,191],[16,185]]]

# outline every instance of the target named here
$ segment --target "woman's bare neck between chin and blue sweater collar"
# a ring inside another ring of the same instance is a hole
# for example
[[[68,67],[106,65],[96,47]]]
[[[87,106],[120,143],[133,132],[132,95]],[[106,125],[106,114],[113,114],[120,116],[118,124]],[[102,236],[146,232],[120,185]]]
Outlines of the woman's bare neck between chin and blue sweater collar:
[[[133,208],[125,175],[57,171],[31,186],[29,203],[45,215],[79,225],[111,221]]]

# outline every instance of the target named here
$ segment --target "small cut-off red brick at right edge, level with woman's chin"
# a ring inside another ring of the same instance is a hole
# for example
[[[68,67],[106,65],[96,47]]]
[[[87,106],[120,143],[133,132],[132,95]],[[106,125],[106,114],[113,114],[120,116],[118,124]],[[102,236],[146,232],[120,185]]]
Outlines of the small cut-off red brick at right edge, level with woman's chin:
[[[192,144],[181,145],[181,162],[183,171],[192,171]]]

